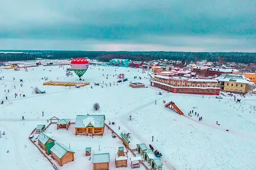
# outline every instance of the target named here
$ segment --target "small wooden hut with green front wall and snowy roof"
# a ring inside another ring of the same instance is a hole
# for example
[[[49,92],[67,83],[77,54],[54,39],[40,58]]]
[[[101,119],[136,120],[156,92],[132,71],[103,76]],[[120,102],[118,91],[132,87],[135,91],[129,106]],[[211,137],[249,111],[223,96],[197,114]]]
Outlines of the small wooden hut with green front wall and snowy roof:
[[[51,154],[51,148],[54,146],[54,139],[47,136],[44,132],[42,132],[38,137],[38,145],[45,150],[45,152],[49,155]]]

